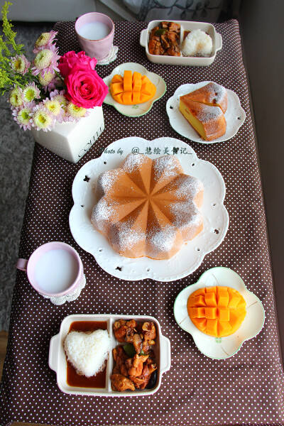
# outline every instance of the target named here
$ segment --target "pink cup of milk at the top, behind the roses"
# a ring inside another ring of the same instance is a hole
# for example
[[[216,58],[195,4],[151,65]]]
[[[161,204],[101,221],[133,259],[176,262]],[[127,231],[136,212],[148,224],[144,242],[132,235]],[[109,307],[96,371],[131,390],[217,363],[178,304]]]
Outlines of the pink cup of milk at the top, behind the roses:
[[[104,13],[90,12],[80,16],[75,31],[81,48],[91,58],[106,58],[114,42],[114,22]]]

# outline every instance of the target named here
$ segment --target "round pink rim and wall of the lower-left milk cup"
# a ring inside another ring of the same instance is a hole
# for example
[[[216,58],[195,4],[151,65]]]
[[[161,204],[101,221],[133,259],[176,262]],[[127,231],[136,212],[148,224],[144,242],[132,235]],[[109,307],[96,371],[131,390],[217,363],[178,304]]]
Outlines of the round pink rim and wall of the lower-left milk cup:
[[[64,249],[64,250],[67,250],[70,253],[72,253],[72,255],[75,257],[75,259],[77,260],[77,263],[78,263],[78,273],[77,273],[77,276],[75,278],[74,283],[72,283],[72,285],[70,285],[70,287],[66,288],[66,290],[64,290],[60,293],[49,293],[49,292],[43,290],[40,287],[40,285],[38,285],[38,283],[35,280],[35,276],[34,276],[33,271],[35,270],[35,265],[36,265],[38,259],[44,253],[47,253],[50,250],[56,250],[56,249]],[[35,249],[35,251],[33,251],[30,258],[28,259],[26,272],[27,272],[27,275],[28,275],[29,282],[31,283],[32,287],[38,293],[40,293],[41,295],[49,296],[49,297],[59,297],[59,296],[64,296],[64,295],[67,295],[69,293],[72,293],[75,290],[75,288],[77,288],[77,286],[82,281],[84,268],[83,268],[83,264],[82,264],[82,261],[81,261],[79,254],[77,253],[77,251],[75,249],[73,249],[73,247],[71,247],[69,244],[62,243],[61,241],[50,241],[49,243],[45,243],[42,246],[39,246],[38,249]]]

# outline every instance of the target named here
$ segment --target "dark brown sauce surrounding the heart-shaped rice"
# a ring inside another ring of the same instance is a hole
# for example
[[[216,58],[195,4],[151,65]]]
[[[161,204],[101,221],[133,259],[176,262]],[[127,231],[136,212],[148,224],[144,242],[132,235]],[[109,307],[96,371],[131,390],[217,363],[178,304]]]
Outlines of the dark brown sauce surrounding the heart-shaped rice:
[[[94,332],[107,330],[107,321],[75,321],[70,325],[70,332]],[[67,361],[67,385],[79,388],[105,388],[107,376],[107,362],[103,371],[96,376],[86,377],[76,373],[75,368]]]

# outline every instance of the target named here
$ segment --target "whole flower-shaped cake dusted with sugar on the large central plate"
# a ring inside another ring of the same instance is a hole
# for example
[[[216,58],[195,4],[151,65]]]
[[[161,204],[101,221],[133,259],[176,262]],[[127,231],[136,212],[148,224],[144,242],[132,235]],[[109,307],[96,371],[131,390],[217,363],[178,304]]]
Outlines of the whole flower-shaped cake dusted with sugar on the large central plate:
[[[175,155],[129,154],[99,175],[92,224],[122,256],[168,259],[203,229],[203,184]]]

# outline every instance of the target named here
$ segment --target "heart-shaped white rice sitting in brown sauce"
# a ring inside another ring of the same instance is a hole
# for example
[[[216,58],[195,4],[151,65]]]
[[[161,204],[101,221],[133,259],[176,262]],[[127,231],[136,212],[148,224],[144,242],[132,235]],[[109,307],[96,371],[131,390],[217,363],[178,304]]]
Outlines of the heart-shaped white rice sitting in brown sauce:
[[[107,330],[73,331],[65,338],[64,350],[77,373],[91,377],[104,369],[111,351],[111,339]]]

